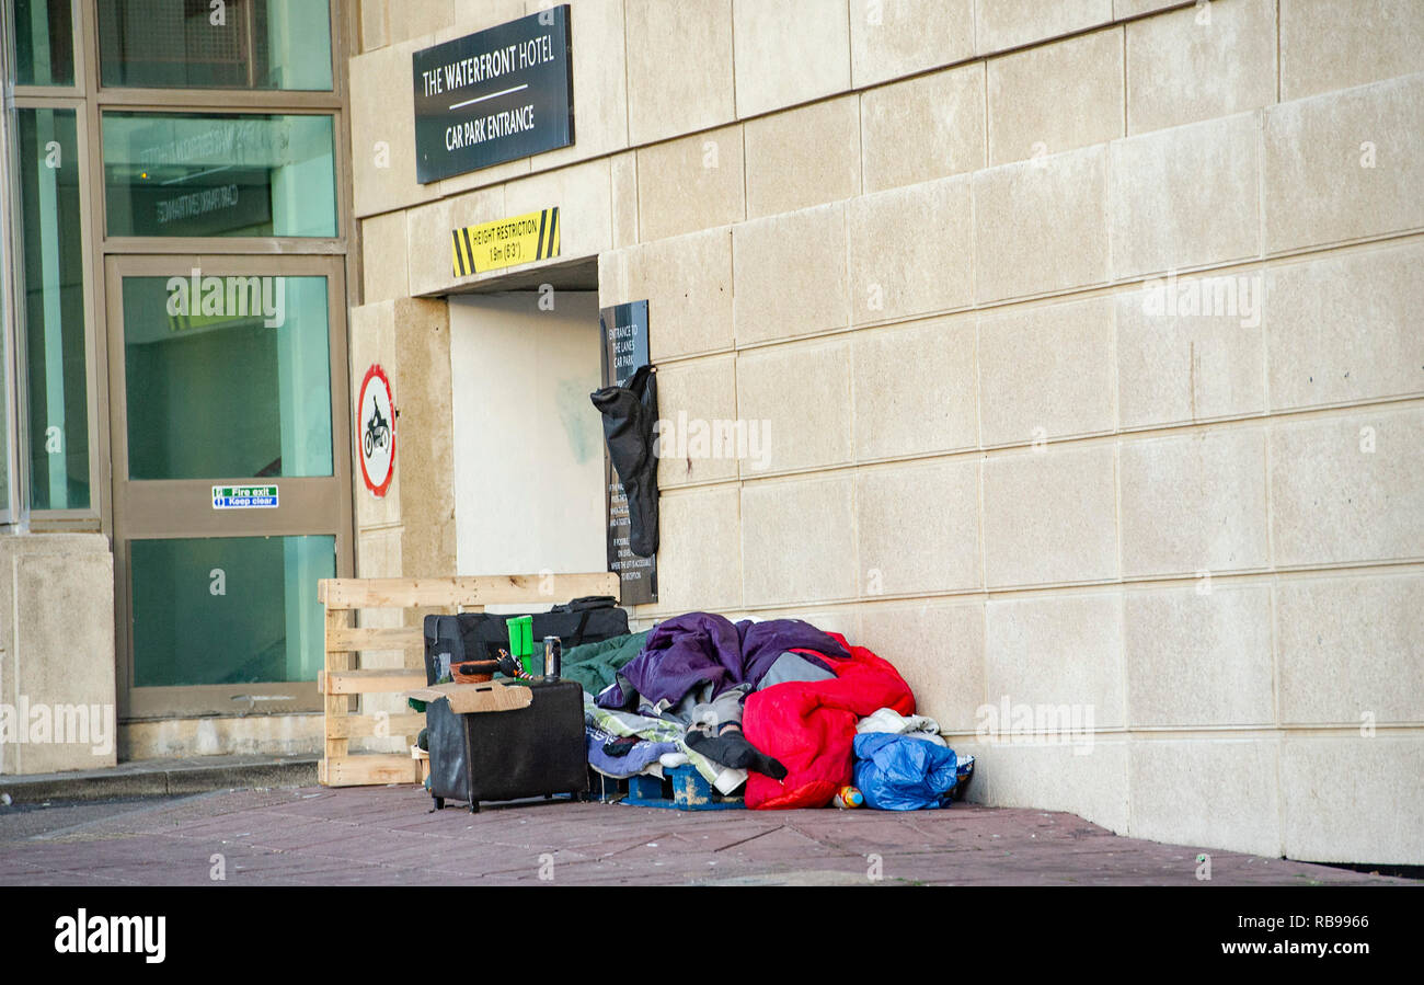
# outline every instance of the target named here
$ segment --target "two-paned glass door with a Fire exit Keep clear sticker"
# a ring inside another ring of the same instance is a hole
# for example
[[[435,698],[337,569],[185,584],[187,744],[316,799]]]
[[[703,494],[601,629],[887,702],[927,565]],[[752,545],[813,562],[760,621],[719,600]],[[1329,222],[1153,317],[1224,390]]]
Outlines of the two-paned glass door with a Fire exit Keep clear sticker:
[[[125,717],[319,710],[352,569],[339,258],[107,260]]]

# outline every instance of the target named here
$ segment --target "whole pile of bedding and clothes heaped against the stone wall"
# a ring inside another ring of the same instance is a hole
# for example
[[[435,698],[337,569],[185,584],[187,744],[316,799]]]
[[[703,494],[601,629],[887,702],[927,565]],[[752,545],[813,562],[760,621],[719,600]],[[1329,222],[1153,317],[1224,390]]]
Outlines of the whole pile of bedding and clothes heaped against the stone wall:
[[[869,806],[909,810],[947,804],[967,774],[889,662],[802,619],[688,612],[567,650],[564,676],[584,686],[588,762],[611,777],[689,764],[762,810],[824,807],[864,777]]]

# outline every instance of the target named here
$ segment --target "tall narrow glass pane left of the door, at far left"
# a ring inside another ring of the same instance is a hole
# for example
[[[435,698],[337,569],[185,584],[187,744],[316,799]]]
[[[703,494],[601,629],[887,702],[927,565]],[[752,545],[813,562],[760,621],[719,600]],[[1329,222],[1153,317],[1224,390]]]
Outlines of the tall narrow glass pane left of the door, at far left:
[[[74,110],[17,110],[30,507],[90,505],[84,225]]]

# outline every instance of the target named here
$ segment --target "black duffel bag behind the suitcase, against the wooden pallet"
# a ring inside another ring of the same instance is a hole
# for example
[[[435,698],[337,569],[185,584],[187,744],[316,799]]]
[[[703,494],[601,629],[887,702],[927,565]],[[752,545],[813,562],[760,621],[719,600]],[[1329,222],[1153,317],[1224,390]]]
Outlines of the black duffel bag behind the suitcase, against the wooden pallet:
[[[545,636],[558,636],[564,649],[580,643],[598,643],[628,633],[628,612],[619,609],[612,595],[587,595],[548,612],[533,615],[534,650],[541,653]],[[453,616],[426,616],[426,683],[437,683],[443,669],[464,660],[497,660],[510,648],[506,623],[518,612],[460,612]]]

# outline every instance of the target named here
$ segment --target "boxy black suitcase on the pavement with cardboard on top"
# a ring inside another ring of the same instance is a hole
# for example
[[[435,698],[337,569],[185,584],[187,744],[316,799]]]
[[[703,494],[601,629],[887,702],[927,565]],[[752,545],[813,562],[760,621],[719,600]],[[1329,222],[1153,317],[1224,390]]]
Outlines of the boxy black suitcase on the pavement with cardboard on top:
[[[444,697],[426,706],[436,810],[447,799],[474,813],[481,800],[588,791],[584,689],[574,680],[528,686],[534,699],[510,712],[457,715]]]

